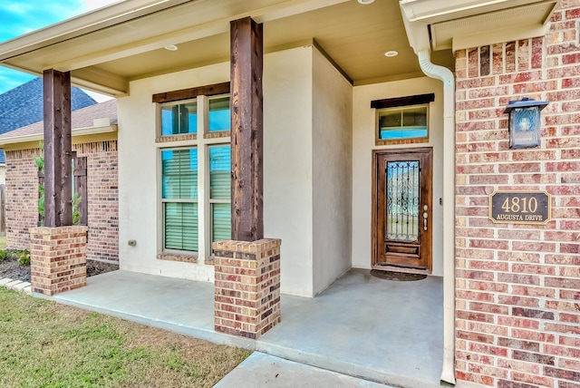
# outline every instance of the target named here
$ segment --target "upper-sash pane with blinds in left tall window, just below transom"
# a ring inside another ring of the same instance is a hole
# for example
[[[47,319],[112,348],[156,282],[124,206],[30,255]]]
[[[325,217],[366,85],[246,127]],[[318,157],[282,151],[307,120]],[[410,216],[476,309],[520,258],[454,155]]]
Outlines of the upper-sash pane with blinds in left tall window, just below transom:
[[[162,150],[163,199],[198,199],[198,149]]]

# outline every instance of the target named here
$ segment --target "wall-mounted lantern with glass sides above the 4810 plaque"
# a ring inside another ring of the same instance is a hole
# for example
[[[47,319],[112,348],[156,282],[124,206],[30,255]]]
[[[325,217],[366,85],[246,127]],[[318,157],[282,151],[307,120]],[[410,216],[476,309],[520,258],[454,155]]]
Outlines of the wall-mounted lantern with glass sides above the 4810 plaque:
[[[509,148],[532,148],[540,145],[540,111],[548,103],[524,97],[507,104],[504,113],[509,114]]]

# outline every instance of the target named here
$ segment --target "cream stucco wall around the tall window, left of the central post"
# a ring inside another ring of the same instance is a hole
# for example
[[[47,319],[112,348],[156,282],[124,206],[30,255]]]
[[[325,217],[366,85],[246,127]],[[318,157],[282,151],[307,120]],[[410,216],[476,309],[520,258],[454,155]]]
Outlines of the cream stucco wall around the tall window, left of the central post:
[[[226,82],[229,64],[131,82],[131,95],[119,99],[119,249],[121,269],[153,275],[213,281],[213,267],[157,259],[160,245],[159,145],[155,142],[156,104],[151,95]],[[171,146],[187,142],[172,142]],[[200,147],[201,148],[201,147]],[[199,157],[202,157],[199,155]],[[128,241],[137,241],[130,247]],[[201,238],[200,238],[201,240]],[[203,241],[200,241],[200,245]],[[200,247],[202,248],[202,247]],[[205,244],[204,247],[205,248]]]

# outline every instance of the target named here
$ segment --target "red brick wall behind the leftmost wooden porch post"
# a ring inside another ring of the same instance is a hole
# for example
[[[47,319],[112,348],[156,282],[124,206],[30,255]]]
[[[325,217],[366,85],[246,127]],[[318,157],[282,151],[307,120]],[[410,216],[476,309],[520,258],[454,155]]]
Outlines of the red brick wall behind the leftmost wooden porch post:
[[[87,157],[89,233],[87,258],[119,260],[119,189],[117,141],[75,144]],[[9,248],[30,246],[29,228],[36,226],[37,184],[34,156],[40,150],[6,151],[6,242]]]

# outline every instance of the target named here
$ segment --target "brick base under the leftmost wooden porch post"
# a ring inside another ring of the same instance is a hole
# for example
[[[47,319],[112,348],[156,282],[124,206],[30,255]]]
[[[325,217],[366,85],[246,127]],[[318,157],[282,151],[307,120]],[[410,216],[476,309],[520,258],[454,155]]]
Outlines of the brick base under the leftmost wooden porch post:
[[[30,228],[30,277],[48,296],[86,286],[88,227]]]

